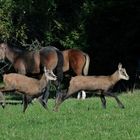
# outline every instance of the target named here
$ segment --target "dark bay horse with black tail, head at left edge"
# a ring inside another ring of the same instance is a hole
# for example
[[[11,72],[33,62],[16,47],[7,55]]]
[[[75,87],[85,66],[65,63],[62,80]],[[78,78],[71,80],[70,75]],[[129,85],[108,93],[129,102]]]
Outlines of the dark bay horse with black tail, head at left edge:
[[[63,54],[55,47],[48,46],[39,51],[25,51],[11,47],[7,43],[0,44],[0,60],[8,59],[17,73],[23,75],[40,75],[43,67],[47,70],[56,71],[57,93],[60,92],[60,83],[63,79]],[[40,102],[47,106],[49,96],[49,86],[46,92],[39,98]]]

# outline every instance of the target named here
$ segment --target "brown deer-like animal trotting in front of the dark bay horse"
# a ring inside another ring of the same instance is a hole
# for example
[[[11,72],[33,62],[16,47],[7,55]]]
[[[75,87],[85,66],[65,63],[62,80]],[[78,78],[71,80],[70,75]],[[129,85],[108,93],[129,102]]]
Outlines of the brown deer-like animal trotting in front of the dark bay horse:
[[[25,112],[28,103],[30,103],[32,99],[39,97],[43,94],[47,87],[48,81],[56,80],[56,76],[53,74],[52,71],[46,70],[46,68],[44,68],[44,71],[45,72],[40,80],[17,73],[4,74],[4,87],[0,88],[0,91],[16,91],[18,93],[26,95],[24,96],[23,100],[23,112]]]

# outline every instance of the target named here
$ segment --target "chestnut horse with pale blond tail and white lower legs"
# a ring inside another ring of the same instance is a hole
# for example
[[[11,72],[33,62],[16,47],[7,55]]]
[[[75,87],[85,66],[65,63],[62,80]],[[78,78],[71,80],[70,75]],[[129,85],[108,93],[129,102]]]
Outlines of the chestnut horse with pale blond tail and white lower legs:
[[[88,75],[90,58],[88,54],[84,53],[78,49],[68,49],[63,52],[64,66],[63,72],[69,70],[73,71],[73,76],[75,75]],[[82,93],[82,99],[86,98],[86,93],[84,91],[79,92],[77,98],[80,99]]]

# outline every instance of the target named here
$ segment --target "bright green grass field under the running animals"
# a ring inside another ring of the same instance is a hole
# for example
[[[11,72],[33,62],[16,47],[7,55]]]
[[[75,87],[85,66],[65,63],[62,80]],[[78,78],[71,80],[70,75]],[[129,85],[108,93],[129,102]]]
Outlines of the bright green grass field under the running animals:
[[[25,114],[22,105],[0,108],[0,140],[139,140],[140,91],[122,94],[125,105],[120,109],[113,98],[107,98],[103,109],[97,97],[86,100],[69,99],[53,112],[36,101]]]

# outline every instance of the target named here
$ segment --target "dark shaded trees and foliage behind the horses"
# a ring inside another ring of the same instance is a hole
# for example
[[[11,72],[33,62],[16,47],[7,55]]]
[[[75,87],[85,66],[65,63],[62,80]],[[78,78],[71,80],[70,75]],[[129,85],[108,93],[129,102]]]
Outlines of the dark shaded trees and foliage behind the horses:
[[[82,49],[90,75],[111,74],[122,62],[131,84],[140,61],[139,15],[139,0],[0,0],[0,40]]]

